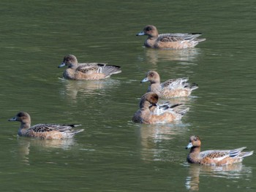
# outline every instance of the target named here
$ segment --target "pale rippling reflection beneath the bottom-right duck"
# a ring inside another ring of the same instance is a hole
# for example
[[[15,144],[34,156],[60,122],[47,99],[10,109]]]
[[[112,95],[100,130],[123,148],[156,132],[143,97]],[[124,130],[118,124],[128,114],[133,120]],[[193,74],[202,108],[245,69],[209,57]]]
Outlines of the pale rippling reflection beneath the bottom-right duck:
[[[243,164],[232,164],[228,166],[200,166],[198,164],[189,165],[189,175],[186,178],[185,186],[191,191],[199,191],[199,177],[225,177],[227,179],[235,179],[251,176],[251,167],[246,167]]]

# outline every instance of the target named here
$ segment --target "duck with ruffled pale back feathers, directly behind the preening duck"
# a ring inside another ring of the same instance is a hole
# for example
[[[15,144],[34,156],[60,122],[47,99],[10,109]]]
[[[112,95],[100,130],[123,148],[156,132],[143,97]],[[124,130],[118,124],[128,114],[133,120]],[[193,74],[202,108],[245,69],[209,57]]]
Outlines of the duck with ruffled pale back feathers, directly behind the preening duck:
[[[193,90],[198,88],[197,84],[189,84],[188,80],[189,78],[183,77],[161,83],[159,74],[155,71],[149,71],[141,82],[150,82],[147,92],[152,91],[157,93],[159,98],[170,99],[173,97],[189,96]]]

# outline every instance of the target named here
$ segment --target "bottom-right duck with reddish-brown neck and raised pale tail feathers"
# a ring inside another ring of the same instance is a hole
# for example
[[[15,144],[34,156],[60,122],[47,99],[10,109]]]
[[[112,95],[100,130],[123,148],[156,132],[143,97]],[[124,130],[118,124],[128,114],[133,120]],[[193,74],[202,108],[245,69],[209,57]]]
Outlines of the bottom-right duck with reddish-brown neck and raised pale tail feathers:
[[[190,164],[203,164],[211,166],[224,166],[235,164],[243,161],[244,157],[252,155],[253,151],[242,152],[246,147],[234,150],[205,150],[200,151],[201,141],[198,136],[189,138],[189,145],[186,149],[190,149],[187,155],[187,161]]]

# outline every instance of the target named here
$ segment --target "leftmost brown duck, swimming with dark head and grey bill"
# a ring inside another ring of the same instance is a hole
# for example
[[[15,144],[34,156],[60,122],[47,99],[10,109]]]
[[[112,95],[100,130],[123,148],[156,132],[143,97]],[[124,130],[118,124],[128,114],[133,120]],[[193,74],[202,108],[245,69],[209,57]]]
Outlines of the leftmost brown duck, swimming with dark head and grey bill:
[[[31,118],[28,112],[18,112],[15,117],[9,121],[20,121],[18,136],[20,137],[37,137],[39,139],[67,139],[72,138],[75,134],[84,131],[84,129],[73,130],[78,124],[49,124],[41,123],[31,126]]]

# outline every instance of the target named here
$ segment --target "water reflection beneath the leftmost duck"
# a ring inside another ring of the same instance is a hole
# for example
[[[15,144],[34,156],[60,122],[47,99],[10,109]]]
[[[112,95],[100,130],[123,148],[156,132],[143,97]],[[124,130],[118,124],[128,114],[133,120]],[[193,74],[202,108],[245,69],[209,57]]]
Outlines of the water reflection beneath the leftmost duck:
[[[31,147],[41,148],[61,148],[63,150],[69,149],[75,145],[75,140],[70,139],[34,139],[27,137],[18,137],[18,154],[22,161],[29,164],[29,153]]]

